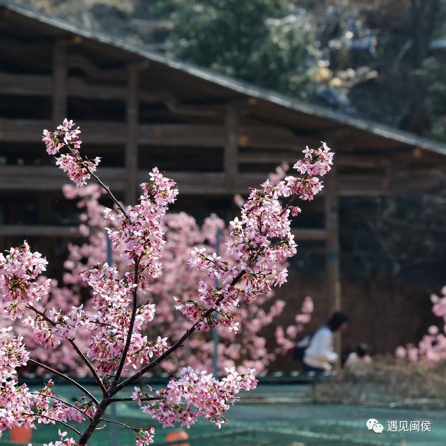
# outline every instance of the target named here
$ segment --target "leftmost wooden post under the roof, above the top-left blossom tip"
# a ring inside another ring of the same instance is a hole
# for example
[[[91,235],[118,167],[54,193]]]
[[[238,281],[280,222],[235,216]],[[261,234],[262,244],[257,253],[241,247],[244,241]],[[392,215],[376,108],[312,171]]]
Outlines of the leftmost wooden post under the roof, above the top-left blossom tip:
[[[66,45],[63,42],[56,42],[53,46],[52,77],[52,123],[54,128],[67,117],[67,71]]]

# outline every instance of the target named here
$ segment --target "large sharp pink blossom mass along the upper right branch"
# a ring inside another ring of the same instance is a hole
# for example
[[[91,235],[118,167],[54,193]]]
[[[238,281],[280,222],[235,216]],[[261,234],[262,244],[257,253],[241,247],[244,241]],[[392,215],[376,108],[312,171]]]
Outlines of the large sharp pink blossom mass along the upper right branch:
[[[296,252],[290,217],[300,212],[298,206],[292,206],[293,199],[313,199],[323,187],[318,176],[327,174],[332,164],[333,155],[325,143],[315,150],[306,148],[304,153],[303,160],[294,166],[302,177],[276,178],[275,184],[266,180],[259,189],[251,190],[240,218],[230,222],[231,233],[226,245],[238,268],[217,254],[206,253],[205,249],[195,248],[191,252],[190,265],[220,283],[204,286],[201,282],[199,300],[176,300],[177,309],[197,321],[198,330],[224,325],[237,331],[233,310],[239,300],[243,298],[251,304],[272,286],[286,282],[288,270],[282,263]],[[288,199],[288,203],[284,205],[283,199]],[[212,317],[214,309],[218,310],[219,318]]]

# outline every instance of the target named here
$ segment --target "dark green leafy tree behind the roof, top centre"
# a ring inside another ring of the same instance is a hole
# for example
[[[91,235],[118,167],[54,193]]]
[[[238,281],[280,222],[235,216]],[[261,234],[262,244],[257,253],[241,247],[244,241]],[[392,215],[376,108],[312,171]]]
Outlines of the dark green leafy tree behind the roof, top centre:
[[[179,59],[306,98],[318,56],[309,19],[285,0],[179,0],[169,42]]]

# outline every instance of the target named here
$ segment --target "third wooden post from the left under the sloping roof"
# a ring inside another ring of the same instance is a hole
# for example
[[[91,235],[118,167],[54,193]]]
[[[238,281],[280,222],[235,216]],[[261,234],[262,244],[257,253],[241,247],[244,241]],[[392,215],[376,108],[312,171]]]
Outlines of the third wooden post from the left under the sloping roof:
[[[236,107],[226,109],[226,141],[224,145],[224,174],[226,189],[236,192],[238,176],[238,113]]]

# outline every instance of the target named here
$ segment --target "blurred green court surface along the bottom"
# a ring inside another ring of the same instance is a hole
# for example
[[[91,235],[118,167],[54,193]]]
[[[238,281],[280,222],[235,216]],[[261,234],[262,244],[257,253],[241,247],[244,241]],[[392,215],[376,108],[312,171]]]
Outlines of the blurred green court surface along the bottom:
[[[61,386],[58,386],[59,388]],[[65,391],[65,388],[63,388]],[[307,386],[303,385],[261,385],[254,392],[242,397],[229,410],[229,423],[221,429],[213,424],[200,421],[187,430],[190,446],[307,446],[307,445],[370,445],[370,446],[430,446],[446,445],[446,410],[423,410],[414,408],[385,408],[371,406],[352,406],[343,404],[315,404],[303,398]],[[57,392],[57,389],[55,389]],[[70,396],[65,393],[67,401]],[[144,413],[132,403],[116,404],[117,420],[132,426],[155,426],[155,445],[174,445],[167,443],[166,434],[175,429],[162,429],[148,420]],[[111,417],[111,414],[107,414]],[[383,433],[369,431],[365,425],[369,418],[383,424]],[[431,431],[387,431],[388,422],[429,421]],[[62,426],[63,427],[63,426]],[[79,426],[78,426],[79,427]],[[89,446],[111,444],[111,436],[116,438],[115,445],[134,445],[134,434],[121,426],[109,425],[95,433]],[[33,432],[33,445],[42,445],[57,439],[56,426],[45,425]],[[62,430],[67,430],[66,428]],[[183,445],[185,440],[179,444]],[[0,445],[10,445],[9,435],[5,433]],[[178,443],[177,443],[178,444]]]

